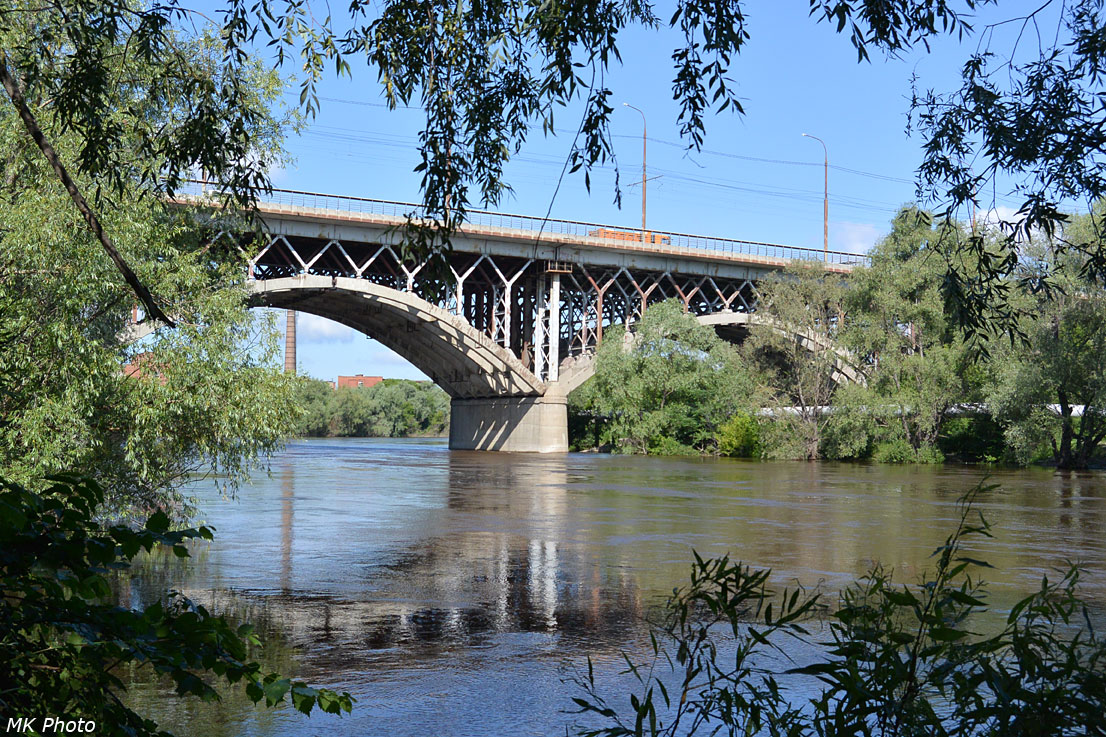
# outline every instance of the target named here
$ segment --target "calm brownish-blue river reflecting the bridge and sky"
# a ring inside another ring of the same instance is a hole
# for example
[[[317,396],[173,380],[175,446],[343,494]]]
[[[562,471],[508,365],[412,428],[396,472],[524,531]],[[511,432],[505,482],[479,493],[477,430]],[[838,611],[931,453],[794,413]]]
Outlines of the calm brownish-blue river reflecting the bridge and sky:
[[[995,606],[1086,565],[1106,602],[1106,475],[989,470],[972,544]],[[133,595],[170,585],[260,623],[264,661],[349,691],[353,715],[305,718],[230,697],[180,704],[140,678],[137,705],[178,735],[564,735],[566,682],[622,650],[687,579],[691,551],[835,592],[875,562],[916,580],[983,469],[450,451],[438,440],[289,445],[271,478],[197,488],[216,541]],[[163,589],[164,590],[164,589]]]

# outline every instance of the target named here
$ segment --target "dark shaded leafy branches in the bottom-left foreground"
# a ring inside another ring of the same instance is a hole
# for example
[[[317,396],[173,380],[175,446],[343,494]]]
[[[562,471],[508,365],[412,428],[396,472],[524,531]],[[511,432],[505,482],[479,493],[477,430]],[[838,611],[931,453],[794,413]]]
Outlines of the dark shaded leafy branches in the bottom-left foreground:
[[[95,521],[104,500],[95,481],[72,476],[39,494],[0,480],[3,714],[72,715],[113,733],[165,734],[121,700],[121,668],[132,664],[171,678],[179,696],[216,699],[213,682],[225,681],[253,703],[349,712],[346,693],[262,672],[249,661],[260,644],[250,626],[234,627],[180,594],[143,611],[108,603],[108,575],[126,571],[139,551],[164,547],[186,558],[186,543],[211,539],[211,530],[170,531],[164,512],[143,529],[105,529]]]

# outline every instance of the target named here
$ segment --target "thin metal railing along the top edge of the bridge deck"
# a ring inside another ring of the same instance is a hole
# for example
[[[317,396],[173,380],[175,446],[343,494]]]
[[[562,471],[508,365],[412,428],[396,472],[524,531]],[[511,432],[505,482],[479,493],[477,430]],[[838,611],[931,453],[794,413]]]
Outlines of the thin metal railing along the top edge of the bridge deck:
[[[202,196],[207,190],[199,181],[190,183],[180,194],[186,196]],[[361,215],[383,215],[403,218],[407,216],[422,217],[422,206],[415,203],[403,203],[387,199],[371,199],[349,195],[328,195],[323,193],[303,191],[299,189],[273,189],[262,194],[259,201],[263,205],[292,207],[311,210],[351,212]],[[825,261],[841,266],[867,266],[869,258],[862,253],[830,251],[825,253],[816,248],[801,248],[783,243],[770,243],[737,238],[718,238],[713,236],[697,236],[692,233],[667,230],[646,231],[645,238],[640,229],[619,226],[586,222],[583,220],[561,220],[540,218],[529,215],[512,215],[492,212],[489,210],[468,210],[466,221],[474,226],[502,228],[532,233],[571,236],[594,240],[596,243],[636,246],[657,251],[714,251],[733,256],[752,256],[770,259]]]

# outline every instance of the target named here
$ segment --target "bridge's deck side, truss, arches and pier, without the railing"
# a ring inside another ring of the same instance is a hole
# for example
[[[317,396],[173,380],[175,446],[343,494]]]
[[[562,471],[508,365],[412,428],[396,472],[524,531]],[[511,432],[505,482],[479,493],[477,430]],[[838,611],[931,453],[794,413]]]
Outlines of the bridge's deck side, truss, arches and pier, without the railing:
[[[778,268],[483,240],[448,255],[441,289],[425,263],[397,256],[389,229],[280,225],[250,260],[253,303],[334,320],[410,361],[450,395],[456,449],[567,450],[565,398],[594,373],[604,328],[678,299],[738,339],[760,322],[757,278]]]

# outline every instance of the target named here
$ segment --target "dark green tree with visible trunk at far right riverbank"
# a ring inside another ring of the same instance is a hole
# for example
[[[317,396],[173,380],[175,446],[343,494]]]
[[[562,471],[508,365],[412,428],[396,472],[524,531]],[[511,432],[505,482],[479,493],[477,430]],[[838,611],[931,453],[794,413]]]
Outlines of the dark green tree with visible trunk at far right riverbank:
[[[1097,217],[1070,230],[1093,228]],[[1018,460],[1045,448],[1060,468],[1086,468],[1106,439],[1106,292],[1074,255],[1051,243],[1034,255],[1054,289],[1021,294],[1026,340],[994,355],[987,401]]]

